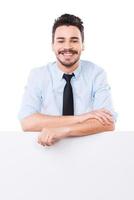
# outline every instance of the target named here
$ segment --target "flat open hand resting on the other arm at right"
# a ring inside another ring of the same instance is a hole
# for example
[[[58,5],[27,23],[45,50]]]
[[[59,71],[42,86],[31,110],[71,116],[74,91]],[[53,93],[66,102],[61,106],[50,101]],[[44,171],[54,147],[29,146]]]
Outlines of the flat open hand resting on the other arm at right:
[[[85,113],[81,115],[81,119],[83,121],[86,121],[88,119],[97,119],[103,125],[110,125],[114,122],[111,112],[103,108]]]

